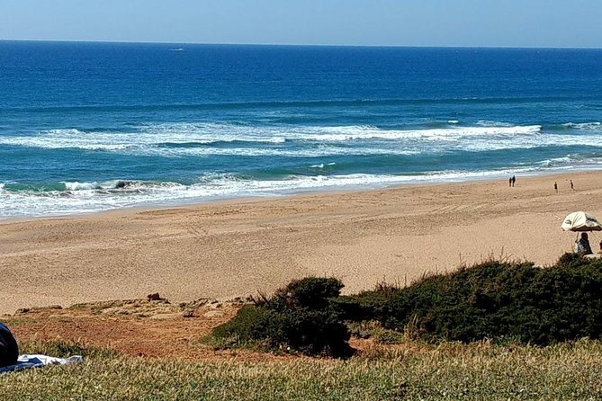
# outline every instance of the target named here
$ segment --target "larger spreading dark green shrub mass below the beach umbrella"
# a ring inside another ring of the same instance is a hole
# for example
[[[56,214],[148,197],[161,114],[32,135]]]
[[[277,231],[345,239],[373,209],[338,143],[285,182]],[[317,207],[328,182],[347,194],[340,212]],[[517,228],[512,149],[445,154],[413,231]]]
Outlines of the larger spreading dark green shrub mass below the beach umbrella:
[[[347,320],[376,320],[406,337],[546,345],[602,335],[602,261],[562,255],[554,266],[490,261],[408,288],[341,297]]]

